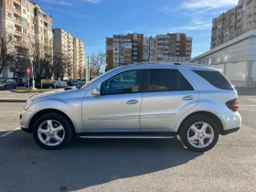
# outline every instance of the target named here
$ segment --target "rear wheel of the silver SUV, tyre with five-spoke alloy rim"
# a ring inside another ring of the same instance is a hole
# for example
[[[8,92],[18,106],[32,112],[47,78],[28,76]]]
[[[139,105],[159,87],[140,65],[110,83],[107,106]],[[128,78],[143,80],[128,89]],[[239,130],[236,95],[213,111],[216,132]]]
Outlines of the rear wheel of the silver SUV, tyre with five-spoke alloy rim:
[[[204,127],[206,127],[205,132]],[[195,115],[189,117],[186,122],[182,123],[179,136],[182,143],[188,149],[196,152],[206,152],[217,144],[219,140],[219,129],[216,123],[208,117]]]

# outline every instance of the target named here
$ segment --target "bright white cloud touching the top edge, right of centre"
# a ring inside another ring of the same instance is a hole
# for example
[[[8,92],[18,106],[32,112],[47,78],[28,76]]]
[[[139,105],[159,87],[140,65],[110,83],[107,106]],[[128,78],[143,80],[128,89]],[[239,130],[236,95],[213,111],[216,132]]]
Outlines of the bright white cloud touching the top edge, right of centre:
[[[237,5],[237,0],[190,0],[184,2],[182,7],[188,9],[197,9],[197,8],[219,8],[219,7],[228,7],[232,5]]]

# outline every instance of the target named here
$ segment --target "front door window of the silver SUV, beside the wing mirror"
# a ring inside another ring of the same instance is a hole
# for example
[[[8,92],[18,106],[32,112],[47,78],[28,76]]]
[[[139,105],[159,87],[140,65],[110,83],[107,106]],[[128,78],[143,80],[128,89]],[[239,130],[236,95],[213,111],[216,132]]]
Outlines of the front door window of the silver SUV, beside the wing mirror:
[[[129,70],[113,76],[101,83],[101,95],[127,94],[140,92],[143,70]]]

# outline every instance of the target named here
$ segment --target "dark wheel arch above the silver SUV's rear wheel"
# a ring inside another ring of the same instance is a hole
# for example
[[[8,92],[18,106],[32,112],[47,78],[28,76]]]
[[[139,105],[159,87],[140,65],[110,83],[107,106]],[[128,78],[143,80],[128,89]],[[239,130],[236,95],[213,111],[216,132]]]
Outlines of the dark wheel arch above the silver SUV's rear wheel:
[[[187,119],[192,117],[192,116],[195,116],[195,115],[206,116],[209,119],[213,120],[213,122],[216,123],[216,125],[219,129],[219,134],[224,133],[224,125],[221,122],[221,120],[219,119],[219,117],[216,114],[214,114],[212,112],[207,112],[207,111],[192,112],[192,113],[188,114],[187,117],[185,117],[179,124],[178,123],[176,124],[177,133],[179,133],[180,127],[182,127],[183,124],[186,123]]]

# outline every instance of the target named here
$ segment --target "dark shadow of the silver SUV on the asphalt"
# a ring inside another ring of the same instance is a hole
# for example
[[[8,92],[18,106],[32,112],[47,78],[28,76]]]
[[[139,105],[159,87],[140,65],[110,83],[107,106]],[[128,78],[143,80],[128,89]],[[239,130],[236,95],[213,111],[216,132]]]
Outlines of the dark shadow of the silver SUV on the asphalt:
[[[61,150],[47,151],[37,146],[31,134],[16,131],[5,143],[10,166],[7,173],[0,173],[5,178],[0,181],[4,191],[10,189],[6,183],[16,181],[21,185],[12,188],[21,191],[34,187],[39,191],[81,190],[171,169],[203,155],[187,150],[176,139],[79,139]]]

